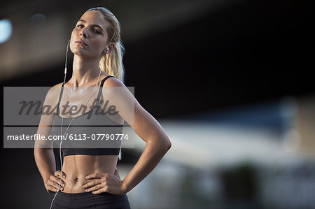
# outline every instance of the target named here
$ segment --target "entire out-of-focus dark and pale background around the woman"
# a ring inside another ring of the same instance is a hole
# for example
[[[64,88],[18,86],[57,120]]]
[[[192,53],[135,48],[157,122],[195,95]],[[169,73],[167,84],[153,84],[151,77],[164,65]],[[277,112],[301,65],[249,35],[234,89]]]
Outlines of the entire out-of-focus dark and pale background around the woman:
[[[2,89],[62,82],[71,31],[96,6],[120,20],[125,85],[172,141],[132,208],[315,208],[309,1],[1,1]],[[134,138],[122,178],[146,145]],[[50,207],[33,150],[1,148],[1,165],[1,206]]]

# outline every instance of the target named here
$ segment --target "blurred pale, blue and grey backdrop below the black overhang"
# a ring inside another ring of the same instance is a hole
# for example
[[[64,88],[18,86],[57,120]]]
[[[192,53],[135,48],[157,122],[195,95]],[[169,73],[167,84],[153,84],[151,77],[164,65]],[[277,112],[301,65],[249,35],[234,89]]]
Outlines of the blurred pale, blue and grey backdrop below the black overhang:
[[[130,201],[135,208],[314,208],[314,99],[163,120],[172,148]],[[145,143],[135,142],[141,153]],[[132,167],[120,168],[126,175]]]

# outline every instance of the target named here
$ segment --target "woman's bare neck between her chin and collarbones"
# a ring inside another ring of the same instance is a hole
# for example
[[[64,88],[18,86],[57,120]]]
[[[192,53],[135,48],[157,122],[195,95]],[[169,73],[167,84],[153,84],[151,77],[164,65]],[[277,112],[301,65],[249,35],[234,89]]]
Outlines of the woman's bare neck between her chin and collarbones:
[[[73,57],[73,75],[71,78],[72,85],[76,87],[89,85],[90,82],[95,82],[99,76],[99,60],[84,59],[74,55]]]

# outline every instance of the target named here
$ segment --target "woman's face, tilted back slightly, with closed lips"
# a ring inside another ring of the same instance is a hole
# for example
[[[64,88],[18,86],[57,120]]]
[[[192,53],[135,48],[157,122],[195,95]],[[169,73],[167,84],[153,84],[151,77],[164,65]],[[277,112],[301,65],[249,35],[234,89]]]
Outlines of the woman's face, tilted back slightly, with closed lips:
[[[80,17],[71,34],[70,50],[80,57],[100,58],[109,43],[107,27],[102,13],[88,11]],[[83,43],[84,41],[84,43]]]

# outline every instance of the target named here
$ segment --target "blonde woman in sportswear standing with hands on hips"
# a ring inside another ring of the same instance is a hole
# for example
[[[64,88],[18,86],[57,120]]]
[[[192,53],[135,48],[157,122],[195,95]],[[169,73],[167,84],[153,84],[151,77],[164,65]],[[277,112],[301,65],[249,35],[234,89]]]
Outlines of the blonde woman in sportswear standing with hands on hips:
[[[102,115],[102,118],[113,124],[123,124],[125,120],[146,142],[146,147],[134,168],[125,179],[120,180],[116,168],[118,154],[120,157],[117,147],[90,150],[64,148],[62,171],[55,171],[52,145],[47,147],[47,144],[36,142],[34,157],[45,189],[47,192],[57,192],[51,208],[130,208],[126,193],[153,171],[171,147],[171,142],[160,124],[141,107],[123,84],[120,24],[108,9],[91,8],[80,17],[71,34],[70,49],[74,54],[72,78],[66,83],[55,85],[59,90],[52,88],[46,95],[44,105],[58,108],[52,115],[41,116],[37,133],[48,136],[54,129],[60,129],[54,124],[61,121],[64,124],[61,125],[60,134],[64,135],[71,130],[71,123],[85,120],[83,112],[73,116],[71,111],[62,111],[62,104],[66,101],[76,106],[84,103],[85,107],[91,107],[87,109],[88,113],[93,110],[95,99],[100,101],[106,98],[119,114]],[[97,87],[99,94],[87,94],[86,91],[76,89],[90,86]],[[104,91],[101,86],[120,87],[120,93]],[[67,90],[63,87],[74,88]],[[90,98],[87,98],[88,95]],[[59,101],[56,99],[58,97]],[[134,103],[132,110],[126,105],[130,100]],[[104,107],[104,103],[100,102],[99,105]],[[116,127],[114,131],[121,132],[119,126]]]

